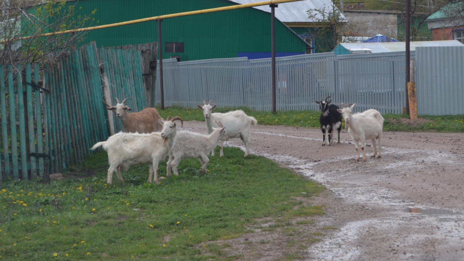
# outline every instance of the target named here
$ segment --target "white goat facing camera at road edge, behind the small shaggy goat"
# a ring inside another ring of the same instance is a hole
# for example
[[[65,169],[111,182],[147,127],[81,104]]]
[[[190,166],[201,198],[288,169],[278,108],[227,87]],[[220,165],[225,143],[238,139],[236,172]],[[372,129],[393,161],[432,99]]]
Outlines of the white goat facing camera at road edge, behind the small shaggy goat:
[[[206,131],[208,133],[213,132],[213,127],[219,127],[215,122],[221,122],[227,131],[227,136],[229,138],[240,138],[245,144],[245,157],[250,155],[250,134],[251,134],[251,123],[258,124],[255,117],[251,117],[245,114],[242,110],[229,111],[227,113],[213,113],[213,109],[216,108],[217,104],[211,106],[210,100],[208,104],[203,101],[203,106],[197,104],[198,108],[203,110],[203,116],[205,116],[206,121]],[[222,144],[224,142],[219,142],[219,156],[224,156],[222,152]],[[214,149],[211,151],[211,156],[214,156]]]

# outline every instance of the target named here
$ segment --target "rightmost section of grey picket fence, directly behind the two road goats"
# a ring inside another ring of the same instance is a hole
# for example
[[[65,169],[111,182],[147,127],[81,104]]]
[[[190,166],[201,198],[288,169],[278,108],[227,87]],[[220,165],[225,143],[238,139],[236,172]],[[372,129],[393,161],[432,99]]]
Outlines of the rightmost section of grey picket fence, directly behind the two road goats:
[[[402,112],[406,85],[405,52],[339,55],[337,59],[339,103],[355,103],[356,111]]]

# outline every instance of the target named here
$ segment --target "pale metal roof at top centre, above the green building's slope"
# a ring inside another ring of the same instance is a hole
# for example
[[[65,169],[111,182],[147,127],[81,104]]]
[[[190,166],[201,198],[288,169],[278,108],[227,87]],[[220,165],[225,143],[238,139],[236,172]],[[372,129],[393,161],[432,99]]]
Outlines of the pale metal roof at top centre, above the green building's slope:
[[[256,2],[262,2],[263,0],[231,0],[232,2],[236,2],[238,4],[251,4]],[[304,0],[304,1],[296,1],[290,3],[283,3],[279,4],[278,7],[275,9],[276,18],[284,23],[291,23],[291,22],[320,22],[320,20],[309,19],[308,11],[309,9],[322,9],[324,6],[326,9],[332,8],[332,1],[331,0]],[[260,7],[253,7],[264,12],[271,13],[271,7],[269,6],[260,6]],[[316,14],[316,19],[322,19],[319,13]],[[341,13],[343,20],[346,20],[345,16]]]

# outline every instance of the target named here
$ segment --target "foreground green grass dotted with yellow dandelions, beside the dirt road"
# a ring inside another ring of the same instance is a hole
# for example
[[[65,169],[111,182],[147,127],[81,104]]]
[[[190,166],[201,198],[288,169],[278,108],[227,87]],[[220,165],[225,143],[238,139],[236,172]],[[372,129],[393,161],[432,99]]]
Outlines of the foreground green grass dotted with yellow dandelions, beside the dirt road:
[[[104,151],[69,168],[68,178],[61,181],[4,181],[0,256],[6,260],[239,260],[208,241],[243,235],[247,225],[257,225],[263,217],[284,221],[323,214],[322,206],[305,205],[295,198],[318,195],[324,190],[320,184],[264,157],[244,158],[238,148],[224,150],[225,157],[211,158],[207,174],[199,173],[197,159],[184,160],[179,176],[160,184],[146,183],[147,166],[124,172],[125,184],[117,180],[105,184]],[[161,173],[166,173],[165,166],[160,164]]]

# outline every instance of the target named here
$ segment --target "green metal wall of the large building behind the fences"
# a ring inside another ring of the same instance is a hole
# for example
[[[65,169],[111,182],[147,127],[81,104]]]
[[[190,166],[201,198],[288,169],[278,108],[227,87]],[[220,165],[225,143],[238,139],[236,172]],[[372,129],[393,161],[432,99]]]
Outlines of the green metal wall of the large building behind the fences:
[[[231,6],[227,0],[79,0],[77,14],[93,16],[98,25]],[[94,25],[96,25],[94,23]],[[237,52],[271,52],[271,14],[253,8],[165,19],[162,25],[163,59],[181,55],[182,61],[237,57]],[[90,31],[83,44],[121,46],[158,41],[156,21]],[[165,42],[184,42],[183,53],[164,52]],[[276,52],[305,52],[306,44],[276,20]]]

